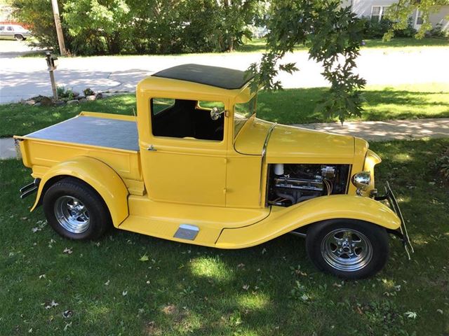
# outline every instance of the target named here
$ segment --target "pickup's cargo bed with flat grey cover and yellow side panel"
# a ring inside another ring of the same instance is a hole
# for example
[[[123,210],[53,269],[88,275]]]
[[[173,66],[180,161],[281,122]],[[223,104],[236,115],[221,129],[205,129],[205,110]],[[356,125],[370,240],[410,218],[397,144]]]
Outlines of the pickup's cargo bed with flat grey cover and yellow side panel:
[[[133,195],[143,195],[135,117],[81,112],[79,116],[25,136],[16,136],[25,167],[34,178],[60,162],[88,156],[112,167]]]

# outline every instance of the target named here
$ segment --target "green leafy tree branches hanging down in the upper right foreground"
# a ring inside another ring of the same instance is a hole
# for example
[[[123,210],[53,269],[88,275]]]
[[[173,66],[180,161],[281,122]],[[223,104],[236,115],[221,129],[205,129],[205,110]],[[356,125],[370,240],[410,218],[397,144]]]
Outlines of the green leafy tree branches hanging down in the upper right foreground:
[[[347,1],[345,2],[347,3]],[[414,10],[421,10],[424,24],[417,37],[431,28],[429,13],[449,0],[398,0],[388,10],[391,29],[385,38],[405,29]],[[349,3],[347,3],[349,5]],[[356,58],[363,41],[363,20],[356,18],[350,6],[340,0],[272,0],[267,27],[267,52],[258,63],[251,64],[249,73],[255,76],[253,87],[281,89],[276,77],[280,71],[297,71],[295,63],[283,64],[281,59],[293,52],[297,44],[309,47],[309,57],[323,64],[322,75],[330,83],[316,109],[342,123],[351,116],[361,116],[361,89],[366,80],[356,73]]]

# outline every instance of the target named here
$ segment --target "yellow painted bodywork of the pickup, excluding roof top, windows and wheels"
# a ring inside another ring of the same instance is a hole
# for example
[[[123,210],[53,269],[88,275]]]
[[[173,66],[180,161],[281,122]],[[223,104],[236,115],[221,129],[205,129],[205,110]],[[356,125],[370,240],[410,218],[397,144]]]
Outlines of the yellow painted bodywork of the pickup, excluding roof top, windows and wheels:
[[[384,204],[348,195],[317,197],[292,207],[264,204],[267,167],[273,163],[351,165],[350,176],[372,174],[380,158],[363,139],[276,125],[251,117],[234,141],[234,105],[247,102],[247,86],[225,90],[168,78],[149,77],[136,90],[138,116],[82,112],[82,116],[135,121],[140,151],[15,137],[22,160],[43,186],[56,176],[74,176],[105,200],[114,226],[145,235],[218,248],[243,248],[330,218],[353,218],[397,229],[400,221]],[[217,101],[225,105],[224,139],[206,141],[154,137],[150,99]],[[153,146],[157,151],[148,151]],[[264,165],[262,167],[262,162]],[[349,177],[350,177],[349,176]],[[262,183],[261,183],[262,181]],[[34,207],[36,206],[34,205]],[[180,224],[196,225],[194,241],[174,238]]]

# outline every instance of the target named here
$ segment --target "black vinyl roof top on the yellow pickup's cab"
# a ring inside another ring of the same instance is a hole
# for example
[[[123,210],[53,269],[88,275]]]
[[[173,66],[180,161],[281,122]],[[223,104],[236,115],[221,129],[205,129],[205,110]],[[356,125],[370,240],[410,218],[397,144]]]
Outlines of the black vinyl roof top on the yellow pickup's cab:
[[[245,71],[201,64],[173,66],[156,72],[152,76],[186,80],[187,82],[206,84],[227,90],[240,89],[253,79],[253,76],[246,77]]]

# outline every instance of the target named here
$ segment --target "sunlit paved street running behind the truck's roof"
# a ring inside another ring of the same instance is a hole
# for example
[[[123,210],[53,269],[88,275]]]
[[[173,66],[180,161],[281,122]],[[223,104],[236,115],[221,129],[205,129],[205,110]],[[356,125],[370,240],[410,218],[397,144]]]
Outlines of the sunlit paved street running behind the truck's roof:
[[[362,50],[358,69],[368,84],[448,83],[449,48],[412,48],[406,51]],[[58,85],[76,91],[135,90],[139,80],[155,71],[185,63],[227,66],[244,70],[260,59],[258,53],[231,53],[184,56],[103,56],[61,58],[55,71]],[[326,86],[321,65],[308,59],[307,52],[287,55],[285,62],[297,62],[300,71],[281,74],[284,87]],[[36,94],[51,94],[43,57],[11,57],[0,51],[0,103],[18,102]]]

